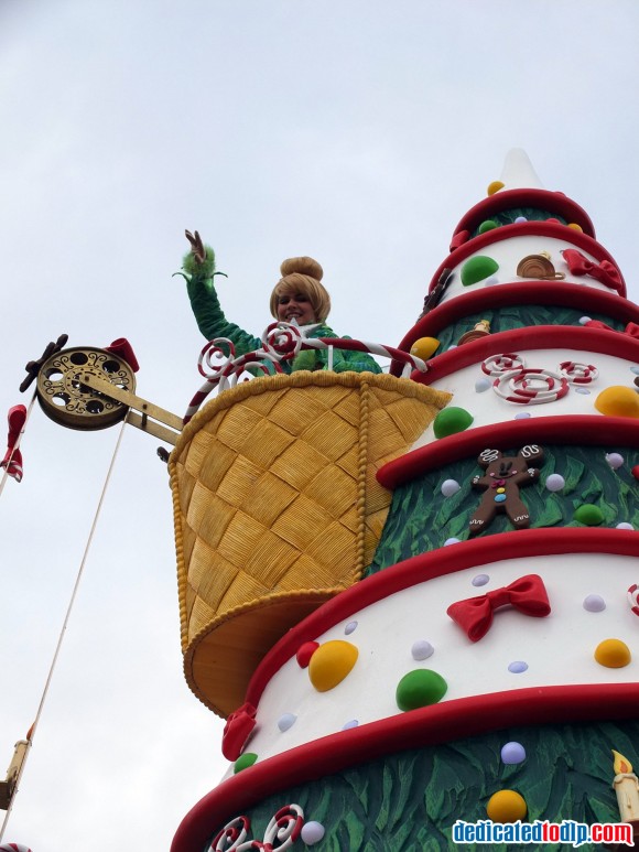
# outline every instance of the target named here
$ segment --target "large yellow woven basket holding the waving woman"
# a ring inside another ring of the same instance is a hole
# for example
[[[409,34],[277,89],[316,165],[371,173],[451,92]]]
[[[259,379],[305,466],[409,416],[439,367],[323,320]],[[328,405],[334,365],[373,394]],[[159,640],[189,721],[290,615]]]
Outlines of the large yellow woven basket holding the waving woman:
[[[390,492],[376,478],[450,396],[370,373],[294,373],[220,393],[185,427],[173,490],[186,680],[212,710],[243,701],[270,647],[355,583]]]

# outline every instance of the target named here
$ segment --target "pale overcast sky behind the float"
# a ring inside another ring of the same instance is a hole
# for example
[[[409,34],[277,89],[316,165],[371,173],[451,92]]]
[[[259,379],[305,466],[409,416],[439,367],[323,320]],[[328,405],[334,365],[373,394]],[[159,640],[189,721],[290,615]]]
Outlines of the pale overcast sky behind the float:
[[[138,392],[184,412],[204,343],[171,278],[185,227],[249,331],[280,262],[311,255],[333,327],[396,345],[512,147],[586,208],[638,301],[638,26],[636,0],[0,0],[0,417],[63,332],[128,337]],[[0,498],[0,775],[118,430],[36,408]],[[4,835],[33,852],[167,850],[225,769],[223,724],[182,676],[158,443],[126,430]]]

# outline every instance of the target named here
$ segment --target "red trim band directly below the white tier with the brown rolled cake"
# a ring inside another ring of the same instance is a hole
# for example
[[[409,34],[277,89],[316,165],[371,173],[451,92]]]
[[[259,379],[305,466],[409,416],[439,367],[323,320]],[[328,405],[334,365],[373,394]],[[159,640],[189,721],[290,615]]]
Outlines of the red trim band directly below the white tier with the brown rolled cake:
[[[534,284],[534,287],[530,284]],[[561,281],[520,281],[512,284],[499,284],[479,289],[470,288],[467,293],[443,302],[433,308],[425,316],[422,316],[405,335],[398,348],[410,352],[413,343],[420,337],[436,337],[438,332],[447,325],[453,325],[453,323],[464,316],[485,310],[499,310],[521,304],[574,308],[575,287],[578,285],[573,283],[565,284]],[[593,311],[607,314],[620,322],[639,323],[639,308],[636,304],[626,299],[620,299],[617,293],[607,293],[603,290],[595,290],[592,287],[581,288],[580,310],[583,310],[584,313]],[[566,326],[561,327],[564,328]],[[399,376],[401,365],[393,364],[393,373]]]

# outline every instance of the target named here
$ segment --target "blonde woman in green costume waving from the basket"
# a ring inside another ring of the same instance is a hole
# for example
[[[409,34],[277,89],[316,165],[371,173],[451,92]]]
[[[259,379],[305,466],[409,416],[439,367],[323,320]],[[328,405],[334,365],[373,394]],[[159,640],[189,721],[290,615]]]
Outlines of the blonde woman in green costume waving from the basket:
[[[235,323],[228,322],[220,308],[213,284],[215,272],[215,252],[210,246],[202,242],[199,234],[186,231],[191,251],[185,256],[183,269],[186,273],[186,290],[197,326],[207,341],[215,337],[228,337],[235,345],[236,356],[259,349],[262,342],[253,337]],[[282,278],[271,293],[270,308],[275,320],[294,322],[306,337],[338,337],[326,325],[331,311],[331,296],[321,283],[322,267],[313,258],[290,258],[281,266]],[[305,349],[300,352],[293,363],[282,362],[285,373],[292,370],[327,369],[328,349]],[[333,349],[333,370],[335,373],[381,373],[377,362],[364,352]]]

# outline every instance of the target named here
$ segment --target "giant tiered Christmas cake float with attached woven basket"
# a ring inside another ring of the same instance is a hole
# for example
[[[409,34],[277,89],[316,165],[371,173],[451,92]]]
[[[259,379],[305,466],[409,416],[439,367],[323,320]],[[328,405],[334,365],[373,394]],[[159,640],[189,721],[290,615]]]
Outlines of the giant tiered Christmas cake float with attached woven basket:
[[[257,378],[193,418],[170,461],[182,644],[231,765],[172,852],[619,820],[638,324],[587,214],[516,151],[400,344],[425,368]]]

